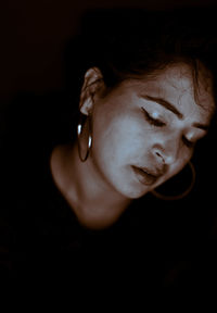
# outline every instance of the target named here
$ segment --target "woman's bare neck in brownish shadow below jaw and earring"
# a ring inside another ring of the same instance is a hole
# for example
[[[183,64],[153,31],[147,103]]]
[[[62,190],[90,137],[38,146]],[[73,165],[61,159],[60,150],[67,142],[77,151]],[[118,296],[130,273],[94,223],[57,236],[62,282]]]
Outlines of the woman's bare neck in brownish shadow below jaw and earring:
[[[104,181],[90,156],[79,160],[77,145],[56,147],[50,162],[56,187],[88,228],[111,226],[131,202]]]

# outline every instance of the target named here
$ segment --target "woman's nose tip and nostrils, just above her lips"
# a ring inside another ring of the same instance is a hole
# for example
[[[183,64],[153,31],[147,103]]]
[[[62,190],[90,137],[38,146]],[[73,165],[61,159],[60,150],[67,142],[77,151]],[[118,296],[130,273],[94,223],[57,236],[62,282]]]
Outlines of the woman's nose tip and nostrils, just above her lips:
[[[178,140],[165,140],[153,147],[153,153],[159,164],[170,165],[178,159]]]

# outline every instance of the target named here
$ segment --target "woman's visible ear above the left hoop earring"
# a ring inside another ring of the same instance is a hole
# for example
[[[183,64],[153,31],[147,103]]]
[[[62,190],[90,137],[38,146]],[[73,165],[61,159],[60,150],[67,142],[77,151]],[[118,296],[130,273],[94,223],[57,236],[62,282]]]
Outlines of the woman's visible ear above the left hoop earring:
[[[89,115],[94,103],[94,96],[104,86],[103,76],[98,67],[89,68],[85,74],[85,80],[80,93],[80,112]]]

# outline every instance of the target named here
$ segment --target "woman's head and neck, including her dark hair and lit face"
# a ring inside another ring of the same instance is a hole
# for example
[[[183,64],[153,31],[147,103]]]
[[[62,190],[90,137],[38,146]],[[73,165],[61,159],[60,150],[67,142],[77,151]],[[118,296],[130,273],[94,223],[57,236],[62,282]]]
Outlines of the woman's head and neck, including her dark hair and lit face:
[[[91,228],[111,226],[133,199],[179,173],[215,112],[207,42],[188,16],[184,26],[171,13],[135,17],[119,16],[120,34],[98,42],[99,66],[84,75],[78,138],[51,155],[58,188]],[[85,42],[86,53],[95,51]]]

